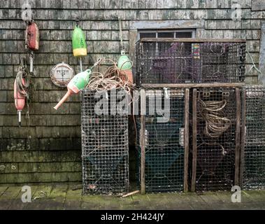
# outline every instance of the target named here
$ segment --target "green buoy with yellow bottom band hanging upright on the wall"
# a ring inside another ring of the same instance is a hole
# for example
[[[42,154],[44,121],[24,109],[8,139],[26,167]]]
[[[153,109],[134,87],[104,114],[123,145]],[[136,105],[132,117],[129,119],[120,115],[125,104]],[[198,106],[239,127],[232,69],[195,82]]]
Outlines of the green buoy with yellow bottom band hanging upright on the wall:
[[[72,35],[73,56],[80,59],[80,71],[83,71],[82,57],[87,56],[87,43],[85,42],[85,34],[79,27],[80,19],[76,18],[76,27]]]

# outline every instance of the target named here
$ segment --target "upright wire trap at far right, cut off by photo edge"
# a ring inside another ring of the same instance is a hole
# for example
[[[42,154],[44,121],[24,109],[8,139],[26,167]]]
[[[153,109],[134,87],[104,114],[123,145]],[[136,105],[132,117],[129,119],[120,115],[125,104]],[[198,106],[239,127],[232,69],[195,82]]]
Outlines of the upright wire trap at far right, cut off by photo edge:
[[[245,86],[243,188],[265,188],[265,86]]]

